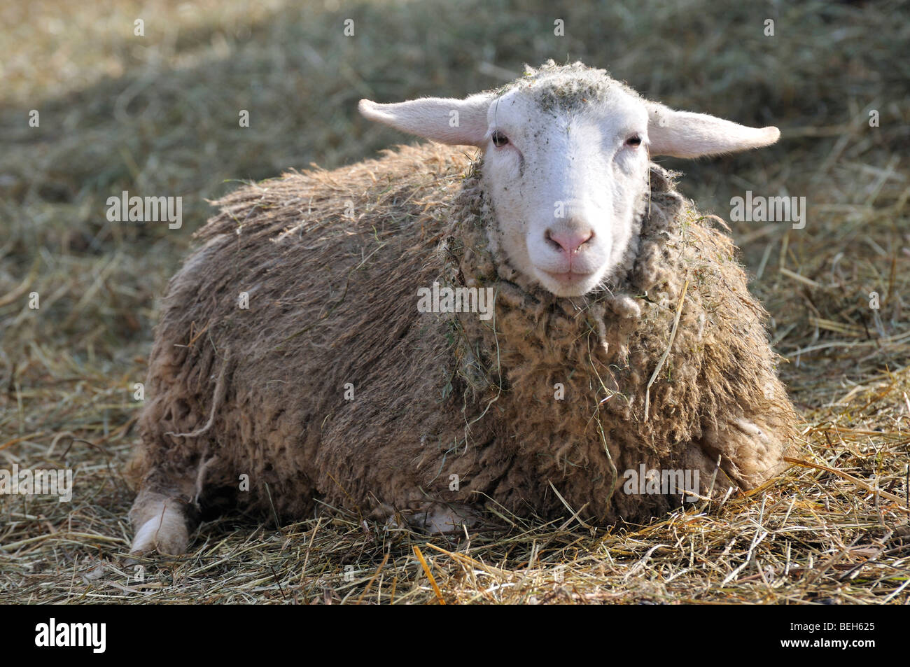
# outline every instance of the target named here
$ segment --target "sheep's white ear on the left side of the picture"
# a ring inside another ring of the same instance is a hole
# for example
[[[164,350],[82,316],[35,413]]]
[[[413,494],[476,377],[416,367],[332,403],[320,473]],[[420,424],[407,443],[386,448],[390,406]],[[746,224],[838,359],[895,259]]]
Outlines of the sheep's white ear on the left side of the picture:
[[[358,108],[370,120],[402,132],[442,144],[480,147],[487,136],[487,111],[492,99],[486,94],[465,99],[423,97],[389,105],[361,99]]]

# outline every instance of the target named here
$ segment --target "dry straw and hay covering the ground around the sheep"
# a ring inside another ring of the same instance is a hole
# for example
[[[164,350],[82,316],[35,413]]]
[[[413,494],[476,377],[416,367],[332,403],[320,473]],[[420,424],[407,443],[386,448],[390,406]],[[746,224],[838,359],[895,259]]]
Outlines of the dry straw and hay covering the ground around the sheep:
[[[76,471],[70,503],[0,496],[0,601],[910,601],[905,4],[112,5],[0,8],[0,469]],[[428,540],[332,509],[281,527],[230,516],[129,579],[133,383],[205,199],[400,141],[355,116],[360,96],[462,95],[566,56],[671,105],[781,126],[777,147],[667,165],[723,218],[745,190],[807,197],[804,229],[732,227],[804,417],[798,459],[818,467],[638,530],[503,515],[502,531]],[[183,196],[184,227],[107,222],[123,189]]]

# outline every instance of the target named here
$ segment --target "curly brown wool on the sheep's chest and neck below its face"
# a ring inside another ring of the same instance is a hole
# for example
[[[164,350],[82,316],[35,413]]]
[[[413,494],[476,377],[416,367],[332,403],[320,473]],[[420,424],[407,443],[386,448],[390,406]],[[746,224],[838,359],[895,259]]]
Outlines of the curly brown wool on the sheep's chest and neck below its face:
[[[506,437],[521,443],[519,454],[545,460],[541,478],[565,480],[579,503],[573,507],[587,506],[598,520],[641,519],[652,511],[647,505],[656,499],[614,495],[618,473],[642,462],[674,470],[697,460],[704,469],[721,452],[698,440],[705,429],[723,429],[725,418],[766,413],[781,439],[795,435],[796,417],[764,333],[766,313],[747,290],[733,243],[703,225],[672,178],[652,164],[651,191],[636,223],[639,245],[619,279],[581,298],[554,297],[511,267],[496,243],[480,177],[466,182],[452,211],[451,283],[492,286],[497,294],[491,324],[459,316],[460,358],[470,359],[461,375],[471,399],[501,404]],[[683,289],[678,331],[649,387],[670,346]],[[764,468],[766,462],[727,457],[728,480],[718,489],[750,488],[780,470]]]

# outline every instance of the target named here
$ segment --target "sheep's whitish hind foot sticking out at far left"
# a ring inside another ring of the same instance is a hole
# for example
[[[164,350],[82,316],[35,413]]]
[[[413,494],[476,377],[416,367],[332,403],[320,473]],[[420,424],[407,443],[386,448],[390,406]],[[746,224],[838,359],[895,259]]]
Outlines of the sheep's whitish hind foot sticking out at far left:
[[[177,489],[190,484],[190,480],[185,480],[176,486],[152,483],[143,486],[129,511],[136,531],[129,550],[131,555],[152,551],[177,555],[187,551],[189,534],[198,525],[198,511],[192,496]]]

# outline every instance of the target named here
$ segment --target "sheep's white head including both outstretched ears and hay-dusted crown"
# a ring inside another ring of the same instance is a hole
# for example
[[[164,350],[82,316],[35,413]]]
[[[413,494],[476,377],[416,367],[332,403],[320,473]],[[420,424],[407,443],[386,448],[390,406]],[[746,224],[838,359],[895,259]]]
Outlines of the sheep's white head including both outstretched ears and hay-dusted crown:
[[[581,63],[529,68],[465,99],[361,100],[359,108],[405,132],[479,147],[501,248],[559,297],[608,285],[637,248],[650,156],[732,153],[780,136],[776,127],[673,111]]]

